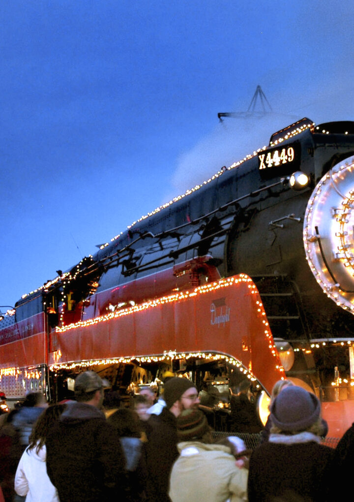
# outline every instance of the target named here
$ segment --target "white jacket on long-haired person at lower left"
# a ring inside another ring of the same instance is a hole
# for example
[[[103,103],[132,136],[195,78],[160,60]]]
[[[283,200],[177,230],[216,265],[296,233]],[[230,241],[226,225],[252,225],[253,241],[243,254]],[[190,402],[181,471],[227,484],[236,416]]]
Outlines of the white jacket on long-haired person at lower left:
[[[20,459],[15,476],[16,493],[26,496],[26,502],[59,502],[58,492],[47,474],[47,450],[42,446],[26,448]]]

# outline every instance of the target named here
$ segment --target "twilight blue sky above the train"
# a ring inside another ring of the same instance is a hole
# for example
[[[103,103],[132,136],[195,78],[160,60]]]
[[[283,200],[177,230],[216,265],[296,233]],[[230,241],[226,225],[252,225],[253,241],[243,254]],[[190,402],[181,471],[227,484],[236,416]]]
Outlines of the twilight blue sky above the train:
[[[4,0],[0,304],[268,143],[354,119],[354,4]],[[260,84],[272,115],[226,119]]]

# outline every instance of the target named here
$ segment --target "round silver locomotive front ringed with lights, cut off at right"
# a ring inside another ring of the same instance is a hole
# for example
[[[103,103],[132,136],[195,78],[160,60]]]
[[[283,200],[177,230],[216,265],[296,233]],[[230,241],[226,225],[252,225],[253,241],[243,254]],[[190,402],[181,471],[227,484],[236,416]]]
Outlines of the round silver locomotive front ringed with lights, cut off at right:
[[[354,157],[336,164],[308,201],[303,240],[323,292],[354,314]]]

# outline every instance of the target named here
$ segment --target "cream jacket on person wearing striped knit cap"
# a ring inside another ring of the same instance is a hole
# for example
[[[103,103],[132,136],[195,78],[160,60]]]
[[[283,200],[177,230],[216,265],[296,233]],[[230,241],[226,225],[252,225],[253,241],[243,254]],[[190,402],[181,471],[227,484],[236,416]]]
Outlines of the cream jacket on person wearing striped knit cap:
[[[235,464],[230,448],[199,441],[178,444],[169,487],[172,502],[247,500],[248,470]]]

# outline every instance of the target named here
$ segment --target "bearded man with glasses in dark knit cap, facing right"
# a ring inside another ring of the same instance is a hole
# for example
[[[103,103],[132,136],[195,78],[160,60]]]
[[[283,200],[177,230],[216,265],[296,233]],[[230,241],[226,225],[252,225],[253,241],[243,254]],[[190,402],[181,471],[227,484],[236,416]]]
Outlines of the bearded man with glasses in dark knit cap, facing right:
[[[198,391],[188,379],[174,376],[164,385],[166,407],[160,415],[151,415],[151,433],[146,445],[148,500],[169,501],[168,482],[174,460],[178,457],[176,419],[182,411],[198,407]]]

